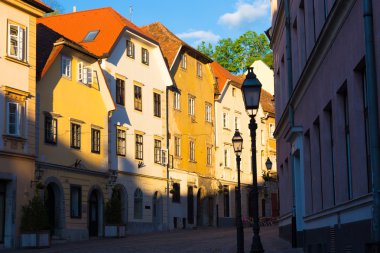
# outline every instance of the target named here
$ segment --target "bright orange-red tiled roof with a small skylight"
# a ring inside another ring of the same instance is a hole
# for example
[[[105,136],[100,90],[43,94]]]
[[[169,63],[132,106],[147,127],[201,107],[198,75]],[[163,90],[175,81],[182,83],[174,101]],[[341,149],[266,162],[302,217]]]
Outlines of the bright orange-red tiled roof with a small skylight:
[[[124,18],[111,7],[72,12],[38,19],[62,36],[80,44],[91,53],[107,57],[119,36],[129,30],[155,44],[158,44],[138,26]],[[93,41],[83,41],[91,31],[98,31]]]

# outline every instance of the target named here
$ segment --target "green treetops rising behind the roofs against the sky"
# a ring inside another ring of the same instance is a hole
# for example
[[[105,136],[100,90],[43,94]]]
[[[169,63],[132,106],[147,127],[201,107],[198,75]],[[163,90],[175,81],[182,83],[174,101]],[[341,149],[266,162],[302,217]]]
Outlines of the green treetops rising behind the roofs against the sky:
[[[273,54],[263,33],[247,31],[236,40],[220,39],[215,48],[202,42],[197,49],[232,73],[243,73],[256,60],[273,66]]]

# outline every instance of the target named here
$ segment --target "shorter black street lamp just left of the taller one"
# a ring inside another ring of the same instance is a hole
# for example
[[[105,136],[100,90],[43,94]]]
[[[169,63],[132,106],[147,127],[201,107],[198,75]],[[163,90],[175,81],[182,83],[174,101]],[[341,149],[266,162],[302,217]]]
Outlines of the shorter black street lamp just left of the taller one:
[[[232,137],[232,145],[236,155],[236,166],[238,172],[238,186],[236,189],[236,236],[237,236],[237,253],[244,253],[244,230],[241,220],[241,188],[240,188],[240,161],[241,151],[243,149],[243,138],[238,129],[235,130]]]

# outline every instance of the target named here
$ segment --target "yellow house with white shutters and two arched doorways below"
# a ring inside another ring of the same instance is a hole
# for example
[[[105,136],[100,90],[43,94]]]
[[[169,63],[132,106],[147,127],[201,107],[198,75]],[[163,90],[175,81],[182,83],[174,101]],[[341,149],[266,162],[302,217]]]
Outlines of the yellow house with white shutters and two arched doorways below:
[[[38,154],[53,238],[103,235],[108,119],[115,109],[98,57],[38,24]]]

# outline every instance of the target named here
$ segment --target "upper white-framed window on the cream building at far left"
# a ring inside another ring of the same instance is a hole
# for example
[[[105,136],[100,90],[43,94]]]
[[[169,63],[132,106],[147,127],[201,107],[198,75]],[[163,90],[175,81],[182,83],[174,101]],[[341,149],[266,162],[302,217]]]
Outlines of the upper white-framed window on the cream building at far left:
[[[8,24],[8,56],[26,61],[25,28],[16,24]]]

